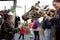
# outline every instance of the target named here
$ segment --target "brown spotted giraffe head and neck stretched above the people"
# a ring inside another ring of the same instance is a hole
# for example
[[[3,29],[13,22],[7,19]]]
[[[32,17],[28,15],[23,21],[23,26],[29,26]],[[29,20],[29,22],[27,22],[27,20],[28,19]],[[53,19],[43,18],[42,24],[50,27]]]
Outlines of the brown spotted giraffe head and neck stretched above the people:
[[[49,10],[49,8],[48,9],[47,8],[48,5],[46,5],[43,9],[42,8],[36,9],[34,6],[32,6],[28,12],[22,15],[22,19],[26,21],[28,19],[33,19],[34,17],[40,18],[43,17],[44,15],[49,16],[54,15],[54,13],[52,14],[52,10]]]

